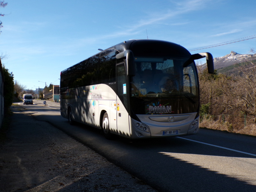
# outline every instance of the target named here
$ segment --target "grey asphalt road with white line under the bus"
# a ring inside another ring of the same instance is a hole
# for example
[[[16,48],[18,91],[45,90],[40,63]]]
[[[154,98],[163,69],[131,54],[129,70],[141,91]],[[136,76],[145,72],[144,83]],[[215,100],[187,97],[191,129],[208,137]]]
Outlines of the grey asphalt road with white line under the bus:
[[[256,191],[255,137],[200,130],[186,137],[106,140],[96,129],[69,125],[59,103],[34,100],[22,107],[159,191]]]

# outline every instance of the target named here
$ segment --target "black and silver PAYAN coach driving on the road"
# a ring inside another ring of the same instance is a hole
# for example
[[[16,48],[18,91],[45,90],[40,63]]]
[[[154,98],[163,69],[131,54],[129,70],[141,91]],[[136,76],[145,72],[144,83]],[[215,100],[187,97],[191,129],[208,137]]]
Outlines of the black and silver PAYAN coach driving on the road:
[[[99,49],[100,50],[100,49]],[[175,137],[199,130],[199,82],[184,47],[161,40],[128,40],[60,73],[60,113],[103,130],[107,139]]]

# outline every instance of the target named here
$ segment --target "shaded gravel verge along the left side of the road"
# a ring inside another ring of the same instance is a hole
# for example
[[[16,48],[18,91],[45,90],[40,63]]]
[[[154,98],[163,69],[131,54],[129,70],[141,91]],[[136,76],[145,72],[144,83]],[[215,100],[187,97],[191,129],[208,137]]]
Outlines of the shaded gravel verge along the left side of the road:
[[[0,144],[0,191],[156,192],[47,122],[12,106]]]

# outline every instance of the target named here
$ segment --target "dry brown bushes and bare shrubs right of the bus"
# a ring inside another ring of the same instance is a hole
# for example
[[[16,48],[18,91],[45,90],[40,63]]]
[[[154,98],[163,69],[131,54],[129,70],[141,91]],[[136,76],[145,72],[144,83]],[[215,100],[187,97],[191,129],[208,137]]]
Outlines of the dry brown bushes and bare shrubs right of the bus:
[[[237,64],[228,75],[198,67],[198,76],[200,127],[256,136],[256,61]]]

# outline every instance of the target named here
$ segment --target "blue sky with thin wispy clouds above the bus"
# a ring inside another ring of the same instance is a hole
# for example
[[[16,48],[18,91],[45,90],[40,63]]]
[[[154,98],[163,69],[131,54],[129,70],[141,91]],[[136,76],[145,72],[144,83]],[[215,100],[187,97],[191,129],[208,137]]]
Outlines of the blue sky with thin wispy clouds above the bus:
[[[60,84],[60,71],[129,39],[159,39],[221,57],[256,50],[255,0],[5,0],[2,64],[27,89]],[[252,38],[249,40],[245,40]],[[233,41],[235,40],[235,41]],[[244,41],[241,41],[244,40]],[[41,81],[41,82],[38,82]]]

